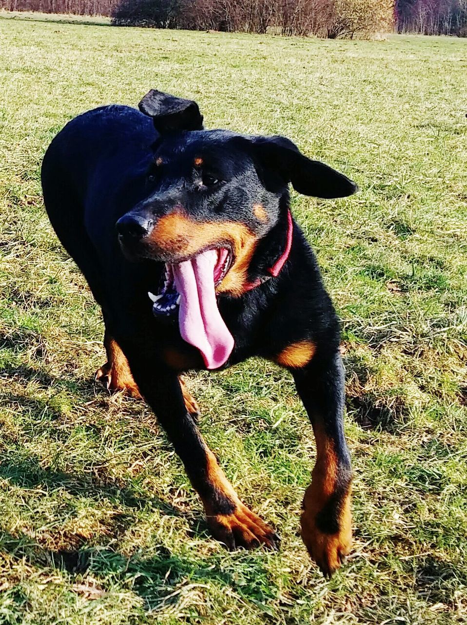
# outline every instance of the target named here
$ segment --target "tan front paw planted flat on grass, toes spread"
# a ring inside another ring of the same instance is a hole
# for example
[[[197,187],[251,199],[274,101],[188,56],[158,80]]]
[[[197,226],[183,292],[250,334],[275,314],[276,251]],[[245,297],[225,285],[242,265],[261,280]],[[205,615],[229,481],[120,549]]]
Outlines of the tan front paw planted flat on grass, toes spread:
[[[259,546],[277,549],[279,546],[280,539],[275,531],[240,502],[232,514],[208,516],[207,522],[215,539],[224,542],[228,549]]]

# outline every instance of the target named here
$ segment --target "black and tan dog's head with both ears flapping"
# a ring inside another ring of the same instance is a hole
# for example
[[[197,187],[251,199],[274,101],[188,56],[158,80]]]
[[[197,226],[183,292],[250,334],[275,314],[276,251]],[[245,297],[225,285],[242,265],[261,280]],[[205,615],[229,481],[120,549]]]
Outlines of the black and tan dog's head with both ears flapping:
[[[204,130],[193,101],[150,91],[139,108],[159,137],[147,196],[119,219],[117,231],[127,256],[166,264],[155,312],[176,314],[179,295],[186,299],[189,289],[202,301],[209,281],[210,299],[240,296],[258,242],[281,218],[289,183],[317,197],[356,191],[343,174],[303,156],[288,139]]]

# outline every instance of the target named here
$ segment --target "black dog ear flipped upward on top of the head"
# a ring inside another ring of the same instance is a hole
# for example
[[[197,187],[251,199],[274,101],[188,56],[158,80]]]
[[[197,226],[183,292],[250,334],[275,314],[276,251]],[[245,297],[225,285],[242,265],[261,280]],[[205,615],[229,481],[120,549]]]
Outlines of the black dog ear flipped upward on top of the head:
[[[169,93],[151,89],[138,106],[141,113],[152,117],[159,133],[203,128],[203,116],[193,100],[176,98]]]

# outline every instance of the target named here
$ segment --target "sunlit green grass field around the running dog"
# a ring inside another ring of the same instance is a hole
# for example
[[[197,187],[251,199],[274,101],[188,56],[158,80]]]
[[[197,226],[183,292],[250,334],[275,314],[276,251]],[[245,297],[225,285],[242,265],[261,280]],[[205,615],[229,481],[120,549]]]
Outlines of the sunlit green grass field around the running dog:
[[[467,622],[467,48],[0,17],[0,624]],[[285,372],[187,377],[279,552],[227,552],[142,402],[95,388],[102,321],[44,214],[39,167],[81,111],[149,88],[209,128],[285,134],[355,179],[293,195],[343,322],[355,549],[298,536],[315,454]]]

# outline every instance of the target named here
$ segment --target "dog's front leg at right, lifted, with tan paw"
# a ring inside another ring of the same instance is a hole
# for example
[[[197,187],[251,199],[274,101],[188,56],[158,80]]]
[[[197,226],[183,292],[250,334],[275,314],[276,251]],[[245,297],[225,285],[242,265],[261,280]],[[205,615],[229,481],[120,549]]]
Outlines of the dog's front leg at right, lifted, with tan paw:
[[[317,459],[303,499],[303,542],[330,576],[351,546],[350,456],[343,429],[344,372],[340,354],[318,354],[292,369],[317,444]]]

